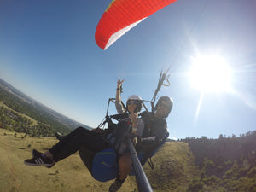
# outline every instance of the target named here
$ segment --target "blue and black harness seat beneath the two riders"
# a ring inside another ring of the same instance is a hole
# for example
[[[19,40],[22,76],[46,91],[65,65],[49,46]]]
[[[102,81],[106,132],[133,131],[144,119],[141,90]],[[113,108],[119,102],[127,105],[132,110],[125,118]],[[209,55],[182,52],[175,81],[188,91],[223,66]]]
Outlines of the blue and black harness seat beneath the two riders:
[[[142,166],[144,166],[148,158],[151,158],[163,144],[166,143],[167,137],[169,137],[168,132],[160,145],[154,148],[154,151],[147,155],[147,157],[144,158],[144,153],[137,154]],[[107,182],[118,176],[119,166],[117,162],[117,154],[113,148],[107,148],[98,153],[91,152],[87,148],[79,148],[79,155],[83,160],[84,165],[87,166],[90,171],[91,176],[97,181]],[[134,175],[134,172],[131,172],[131,175]]]

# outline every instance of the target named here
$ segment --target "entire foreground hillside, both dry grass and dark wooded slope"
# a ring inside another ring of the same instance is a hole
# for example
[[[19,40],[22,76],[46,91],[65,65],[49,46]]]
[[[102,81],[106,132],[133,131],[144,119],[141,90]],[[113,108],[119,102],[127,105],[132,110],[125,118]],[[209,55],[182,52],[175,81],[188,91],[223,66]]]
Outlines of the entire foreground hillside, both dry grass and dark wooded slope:
[[[31,157],[32,148],[45,151],[57,142],[54,137],[25,136],[0,129],[0,191],[108,191],[113,181],[102,183],[91,177],[78,153],[51,169],[24,165],[23,160]],[[256,192],[254,132],[246,139],[222,138],[228,148],[224,152],[223,144],[206,143],[205,139],[167,142],[152,158],[154,170],[146,163],[144,170],[154,192]],[[241,139],[245,139],[246,146],[250,144],[246,154],[236,149],[236,141],[243,146]],[[137,191],[135,177],[128,177],[119,191]]]

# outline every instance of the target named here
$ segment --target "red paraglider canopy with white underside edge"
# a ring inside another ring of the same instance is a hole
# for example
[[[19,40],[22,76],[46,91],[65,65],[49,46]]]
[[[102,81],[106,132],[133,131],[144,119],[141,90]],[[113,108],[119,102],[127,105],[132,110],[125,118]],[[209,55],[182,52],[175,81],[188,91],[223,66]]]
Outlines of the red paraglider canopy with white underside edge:
[[[96,44],[104,50],[108,49],[125,32],[175,1],[177,0],[113,0],[96,27]]]

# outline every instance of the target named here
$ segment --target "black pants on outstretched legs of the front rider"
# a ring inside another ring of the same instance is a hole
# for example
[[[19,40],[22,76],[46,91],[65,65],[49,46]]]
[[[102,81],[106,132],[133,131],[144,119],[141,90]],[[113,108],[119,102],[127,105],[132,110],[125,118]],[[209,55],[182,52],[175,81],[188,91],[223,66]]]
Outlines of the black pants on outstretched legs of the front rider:
[[[49,152],[53,155],[53,160],[57,162],[74,154],[81,147],[86,147],[93,152],[99,152],[109,146],[99,133],[79,127],[63,137],[59,143],[49,149]]]

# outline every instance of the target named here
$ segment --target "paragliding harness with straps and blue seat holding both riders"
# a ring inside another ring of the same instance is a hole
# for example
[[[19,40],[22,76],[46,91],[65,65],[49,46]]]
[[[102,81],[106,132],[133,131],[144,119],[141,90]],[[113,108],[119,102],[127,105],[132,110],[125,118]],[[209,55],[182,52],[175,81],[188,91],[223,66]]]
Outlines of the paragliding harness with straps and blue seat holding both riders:
[[[152,120],[152,114],[147,112],[141,113],[141,117],[145,122],[145,129],[150,131],[152,129],[150,121]],[[119,124],[113,123],[113,119],[121,121]],[[126,119],[122,121],[121,119]],[[79,148],[79,155],[87,166],[92,177],[97,181],[106,182],[115,178],[119,173],[118,158],[120,143],[125,135],[123,131],[130,131],[131,121],[128,120],[128,114],[117,114],[108,116],[108,113],[102,121],[101,126],[108,125],[106,129],[98,127],[99,134],[109,143],[110,148],[102,150],[101,152],[92,152],[88,148]],[[154,125],[156,126],[156,125]],[[119,129],[120,128],[120,129]],[[148,150],[138,151],[137,156],[142,166],[148,161],[148,165],[154,169],[154,164],[151,157],[163,146],[166,142],[169,133],[167,132],[166,137],[154,146],[149,146]],[[134,172],[131,172],[134,175]]]

